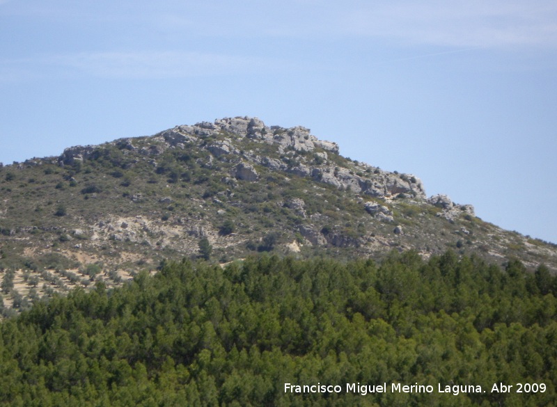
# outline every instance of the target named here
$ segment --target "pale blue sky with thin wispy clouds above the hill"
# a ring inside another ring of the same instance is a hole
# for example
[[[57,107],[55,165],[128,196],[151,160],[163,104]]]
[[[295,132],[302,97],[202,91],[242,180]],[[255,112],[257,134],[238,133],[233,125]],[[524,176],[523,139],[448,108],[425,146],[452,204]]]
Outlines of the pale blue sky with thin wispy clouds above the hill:
[[[0,0],[0,162],[235,115],[557,242],[555,1]]]

